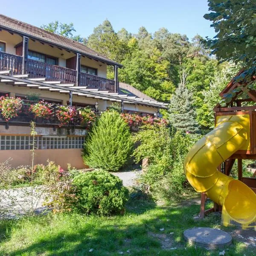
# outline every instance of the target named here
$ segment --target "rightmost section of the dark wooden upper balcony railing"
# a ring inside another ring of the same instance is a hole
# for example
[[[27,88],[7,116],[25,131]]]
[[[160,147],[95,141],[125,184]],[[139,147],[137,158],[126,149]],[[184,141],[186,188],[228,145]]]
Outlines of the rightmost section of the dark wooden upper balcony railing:
[[[113,93],[115,91],[115,81],[93,76],[87,73],[81,73],[80,86],[87,86],[90,89],[107,90]]]

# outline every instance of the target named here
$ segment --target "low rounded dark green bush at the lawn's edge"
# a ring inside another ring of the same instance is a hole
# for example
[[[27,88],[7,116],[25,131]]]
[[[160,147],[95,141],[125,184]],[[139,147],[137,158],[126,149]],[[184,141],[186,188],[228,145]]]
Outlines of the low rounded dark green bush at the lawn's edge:
[[[85,213],[120,213],[128,200],[122,180],[106,171],[86,172],[74,177],[75,208]]]

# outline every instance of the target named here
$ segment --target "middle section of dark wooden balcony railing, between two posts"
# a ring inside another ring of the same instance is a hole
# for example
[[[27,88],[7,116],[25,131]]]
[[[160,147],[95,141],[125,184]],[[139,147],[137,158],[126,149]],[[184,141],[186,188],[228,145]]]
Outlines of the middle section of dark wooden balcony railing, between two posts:
[[[61,81],[64,84],[76,83],[76,70],[31,59],[26,62],[26,73],[30,78],[46,77],[47,80]]]

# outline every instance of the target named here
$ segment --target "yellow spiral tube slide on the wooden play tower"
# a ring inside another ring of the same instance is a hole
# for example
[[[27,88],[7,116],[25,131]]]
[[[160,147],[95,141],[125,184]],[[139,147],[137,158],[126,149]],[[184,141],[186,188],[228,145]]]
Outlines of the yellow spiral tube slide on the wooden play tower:
[[[237,224],[256,230],[256,194],[217,167],[240,149],[250,147],[249,115],[219,116],[215,129],[198,140],[184,161],[187,180],[197,192],[222,205],[225,226]]]

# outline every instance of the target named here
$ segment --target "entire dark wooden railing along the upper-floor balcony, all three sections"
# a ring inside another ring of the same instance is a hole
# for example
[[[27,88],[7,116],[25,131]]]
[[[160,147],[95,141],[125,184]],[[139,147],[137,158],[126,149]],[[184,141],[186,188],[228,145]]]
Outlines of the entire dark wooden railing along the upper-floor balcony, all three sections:
[[[11,75],[20,75],[23,70],[23,57],[6,52],[0,52],[0,70],[11,70]],[[45,77],[47,81],[61,81],[63,84],[76,84],[77,71],[66,67],[49,65],[44,62],[28,59],[24,73],[29,78]],[[115,81],[87,73],[81,73],[79,86],[87,86],[89,89],[99,89],[115,92]]]

